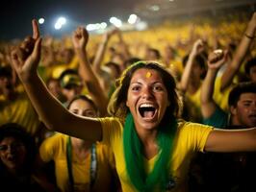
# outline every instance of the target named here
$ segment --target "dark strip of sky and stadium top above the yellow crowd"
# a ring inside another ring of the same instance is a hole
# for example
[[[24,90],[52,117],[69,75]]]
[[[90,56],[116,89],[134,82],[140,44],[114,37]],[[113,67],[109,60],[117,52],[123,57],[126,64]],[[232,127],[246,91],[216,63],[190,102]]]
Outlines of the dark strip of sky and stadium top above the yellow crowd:
[[[160,10],[153,11],[157,5]],[[40,25],[43,35],[60,36],[72,32],[78,25],[106,22],[116,16],[127,20],[131,13],[137,13],[147,22],[169,19],[170,16],[190,16],[207,12],[219,13],[256,11],[256,0],[1,0],[0,40],[23,38],[31,33],[31,20],[43,17]],[[54,29],[59,16],[65,16],[67,24],[62,31]]]

